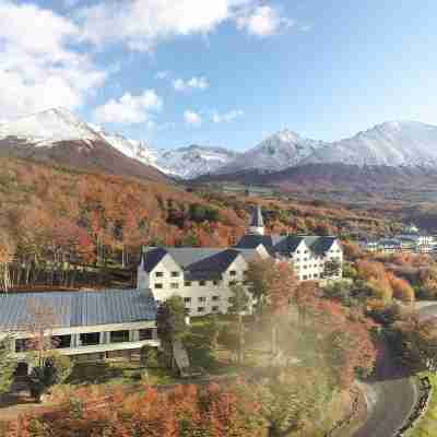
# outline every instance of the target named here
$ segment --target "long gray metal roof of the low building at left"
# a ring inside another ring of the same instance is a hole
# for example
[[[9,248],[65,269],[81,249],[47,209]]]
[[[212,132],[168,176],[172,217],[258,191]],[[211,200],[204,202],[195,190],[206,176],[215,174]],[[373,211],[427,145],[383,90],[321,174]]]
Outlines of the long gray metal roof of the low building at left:
[[[57,328],[152,321],[156,303],[138,290],[99,292],[10,293],[0,295],[0,330],[17,330],[32,323],[33,308],[50,308]]]

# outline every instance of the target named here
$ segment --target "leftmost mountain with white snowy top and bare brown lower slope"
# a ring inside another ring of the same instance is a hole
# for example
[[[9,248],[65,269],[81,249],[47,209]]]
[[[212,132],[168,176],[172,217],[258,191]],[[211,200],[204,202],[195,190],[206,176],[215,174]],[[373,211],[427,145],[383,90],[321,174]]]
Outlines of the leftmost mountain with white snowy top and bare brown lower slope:
[[[157,168],[132,158],[113,137],[101,134],[66,109],[49,109],[0,125],[0,155],[83,170],[168,181]],[[120,150],[119,150],[120,149]],[[145,160],[144,160],[145,161]]]

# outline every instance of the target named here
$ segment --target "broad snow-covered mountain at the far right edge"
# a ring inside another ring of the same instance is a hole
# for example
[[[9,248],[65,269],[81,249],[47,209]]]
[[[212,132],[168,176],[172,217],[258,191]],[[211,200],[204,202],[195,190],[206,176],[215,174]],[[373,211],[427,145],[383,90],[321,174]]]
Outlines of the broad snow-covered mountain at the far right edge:
[[[300,164],[341,163],[391,167],[437,165],[437,127],[417,121],[388,121],[315,151]]]

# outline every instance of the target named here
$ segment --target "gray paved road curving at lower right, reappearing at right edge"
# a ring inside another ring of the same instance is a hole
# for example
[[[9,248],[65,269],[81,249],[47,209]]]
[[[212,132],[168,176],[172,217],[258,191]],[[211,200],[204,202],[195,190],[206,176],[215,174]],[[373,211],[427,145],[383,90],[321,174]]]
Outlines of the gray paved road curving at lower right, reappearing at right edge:
[[[437,317],[437,305],[422,307],[420,317]],[[416,402],[416,388],[411,379],[400,373],[389,354],[382,355],[375,378],[367,385],[367,421],[353,437],[391,437]]]

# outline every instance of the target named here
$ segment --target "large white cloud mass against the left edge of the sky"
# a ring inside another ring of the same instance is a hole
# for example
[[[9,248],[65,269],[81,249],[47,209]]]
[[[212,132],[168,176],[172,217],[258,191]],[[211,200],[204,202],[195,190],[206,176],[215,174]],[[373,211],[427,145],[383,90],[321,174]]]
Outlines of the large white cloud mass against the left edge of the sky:
[[[75,109],[107,72],[72,49],[80,28],[34,4],[0,1],[0,118],[63,106]]]

